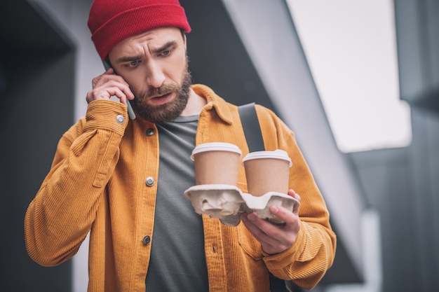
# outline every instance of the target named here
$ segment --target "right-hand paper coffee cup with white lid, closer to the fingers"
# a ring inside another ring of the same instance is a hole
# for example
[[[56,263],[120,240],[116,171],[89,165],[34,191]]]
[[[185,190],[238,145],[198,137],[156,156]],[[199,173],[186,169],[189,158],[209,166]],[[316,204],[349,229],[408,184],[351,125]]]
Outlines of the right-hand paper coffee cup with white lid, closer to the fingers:
[[[257,197],[269,192],[288,193],[291,165],[288,153],[280,149],[248,153],[243,158],[248,193]]]

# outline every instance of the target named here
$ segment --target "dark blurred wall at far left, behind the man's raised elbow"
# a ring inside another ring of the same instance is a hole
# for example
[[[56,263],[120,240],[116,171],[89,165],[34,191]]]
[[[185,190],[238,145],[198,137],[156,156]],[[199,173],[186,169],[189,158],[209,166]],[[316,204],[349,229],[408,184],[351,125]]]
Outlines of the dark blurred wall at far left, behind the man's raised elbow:
[[[26,1],[0,2],[0,291],[71,291],[72,265],[41,267],[23,220],[72,123],[74,46]]]

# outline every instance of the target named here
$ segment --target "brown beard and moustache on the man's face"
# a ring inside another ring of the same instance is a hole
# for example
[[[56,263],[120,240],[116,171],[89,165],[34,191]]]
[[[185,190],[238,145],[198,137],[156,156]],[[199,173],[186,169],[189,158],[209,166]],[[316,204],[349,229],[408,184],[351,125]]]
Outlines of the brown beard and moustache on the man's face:
[[[159,88],[151,88],[147,92],[140,92],[139,95],[135,96],[135,99],[129,101],[137,115],[151,123],[166,123],[180,116],[182,111],[186,108],[192,84],[192,76],[187,63],[188,62],[186,62],[186,68],[182,74],[182,82],[180,85],[163,84]],[[166,95],[170,92],[175,93],[175,99],[170,102],[158,106],[148,104],[149,97]]]

